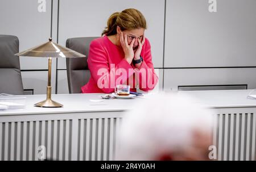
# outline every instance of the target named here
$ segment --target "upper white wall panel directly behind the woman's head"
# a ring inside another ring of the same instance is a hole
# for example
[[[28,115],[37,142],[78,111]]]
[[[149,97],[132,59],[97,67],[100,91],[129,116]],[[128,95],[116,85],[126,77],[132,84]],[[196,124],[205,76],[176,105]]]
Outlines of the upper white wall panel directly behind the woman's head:
[[[137,8],[145,16],[154,67],[163,67],[164,0],[61,0],[59,43],[65,46],[67,38],[101,36],[109,16],[126,8]],[[58,59],[58,68],[66,68],[65,59]]]

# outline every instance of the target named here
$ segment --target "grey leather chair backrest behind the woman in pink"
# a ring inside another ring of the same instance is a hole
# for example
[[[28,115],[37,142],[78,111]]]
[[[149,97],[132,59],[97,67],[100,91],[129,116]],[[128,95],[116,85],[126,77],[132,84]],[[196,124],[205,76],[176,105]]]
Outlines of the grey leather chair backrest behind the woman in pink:
[[[82,85],[88,83],[90,71],[87,58],[90,42],[98,37],[68,38],[66,47],[86,55],[85,58],[67,58],[67,76],[69,93],[81,93]]]

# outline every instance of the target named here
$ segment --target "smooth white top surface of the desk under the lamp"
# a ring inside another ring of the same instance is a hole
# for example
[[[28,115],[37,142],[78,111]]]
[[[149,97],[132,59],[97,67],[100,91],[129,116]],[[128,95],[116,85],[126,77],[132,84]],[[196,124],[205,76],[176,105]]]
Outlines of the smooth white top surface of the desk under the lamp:
[[[187,94],[195,97],[210,108],[246,108],[256,107],[256,100],[247,99],[251,90],[229,90],[229,91],[183,91],[178,94]],[[45,100],[46,95],[26,96],[26,109],[0,111],[0,115],[22,115],[22,114],[53,114],[53,113],[83,113],[96,111],[125,111],[133,108],[135,102],[141,98],[101,100],[104,94],[53,94],[52,100],[63,104],[63,108],[38,108],[34,104]],[[150,96],[146,95],[145,98]]]

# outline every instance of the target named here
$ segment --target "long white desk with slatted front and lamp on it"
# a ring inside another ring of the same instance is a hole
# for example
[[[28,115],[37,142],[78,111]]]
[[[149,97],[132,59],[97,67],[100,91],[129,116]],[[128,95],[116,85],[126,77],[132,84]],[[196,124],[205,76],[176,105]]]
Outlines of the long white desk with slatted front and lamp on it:
[[[253,160],[256,101],[250,91],[179,92],[218,110],[213,131],[218,160]],[[133,100],[104,100],[102,94],[57,94],[64,108],[37,108],[45,95],[26,96],[26,109],[0,111],[0,160],[37,160],[38,146],[53,160],[113,160],[123,111]]]

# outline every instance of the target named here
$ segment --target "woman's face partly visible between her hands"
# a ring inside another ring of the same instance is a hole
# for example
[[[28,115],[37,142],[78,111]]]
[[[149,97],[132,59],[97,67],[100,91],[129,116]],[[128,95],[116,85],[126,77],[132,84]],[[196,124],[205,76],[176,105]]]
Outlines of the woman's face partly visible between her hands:
[[[139,45],[138,40],[140,40],[142,42],[144,31],[145,31],[145,29],[140,28],[140,29],[126,30],[126,31],[122,31],[122,32],[127,35],[127,42],[129,45],[131,44],[131,41],[133,41],[133,38],[135,38],[133,49],[137,49],[138,45]],[[121,29],[119,29],[119,31],[117,33],[119,33],[119,32],[121,32]]]

